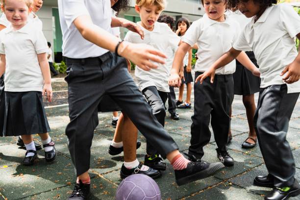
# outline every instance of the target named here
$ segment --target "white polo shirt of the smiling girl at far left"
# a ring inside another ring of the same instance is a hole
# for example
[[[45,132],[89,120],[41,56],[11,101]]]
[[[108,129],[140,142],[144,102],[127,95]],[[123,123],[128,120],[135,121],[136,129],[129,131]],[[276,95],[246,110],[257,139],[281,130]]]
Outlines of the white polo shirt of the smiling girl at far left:
[[[11,26],[0,31],[0,54],[5,54],[5,91],[43,91],[44,79],[37,54],[48,52],[47,40],[34,23],[20,30]]]

